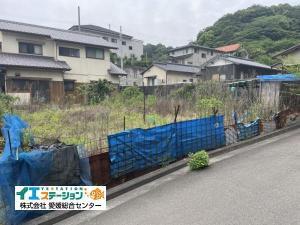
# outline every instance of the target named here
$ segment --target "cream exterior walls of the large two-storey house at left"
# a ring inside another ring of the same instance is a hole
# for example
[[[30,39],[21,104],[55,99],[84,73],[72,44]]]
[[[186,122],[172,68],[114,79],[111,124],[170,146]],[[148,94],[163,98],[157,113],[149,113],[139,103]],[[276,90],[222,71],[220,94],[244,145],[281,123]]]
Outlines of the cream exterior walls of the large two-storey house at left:
[[[48,37],[17,32],[2,32],[1,34],[2,52],[5,53],[19,54],[20,41],[41,44],[43,46],[43,56],[65,61],[71,67],[70,71],[65,72],[65,79],[75,80],[78,83],[107,79],[114,83],[119,83],[118,76],[111,76],[108,73],[110,69],[110,53],[108,49],[104,49],[104,60],[91,59],[86,58],[86,45],[83,44],[56,42]],[[80,49],[80,58],[60,56],[59,46]],[[28,71],[24,71],[22,74],[26,76]],[[31,70],[31,74],[34,76],[38,75],[34,69]]]

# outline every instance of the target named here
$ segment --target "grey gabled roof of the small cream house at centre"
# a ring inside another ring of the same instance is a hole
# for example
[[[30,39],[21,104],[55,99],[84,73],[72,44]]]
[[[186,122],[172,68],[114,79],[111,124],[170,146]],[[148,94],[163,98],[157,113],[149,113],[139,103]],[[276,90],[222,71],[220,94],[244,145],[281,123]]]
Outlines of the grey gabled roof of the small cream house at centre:
[[[189,66],[189,65],[175,64],[175,63],[153,63],[152,66],[157,66],[165,71],[191,73],[191,74],[198,73],[200,70],[198,66]],[[149,70],[152,66],[150,66],[147,70]],[[143,73],[145,73],[147,70],[145,70]]]

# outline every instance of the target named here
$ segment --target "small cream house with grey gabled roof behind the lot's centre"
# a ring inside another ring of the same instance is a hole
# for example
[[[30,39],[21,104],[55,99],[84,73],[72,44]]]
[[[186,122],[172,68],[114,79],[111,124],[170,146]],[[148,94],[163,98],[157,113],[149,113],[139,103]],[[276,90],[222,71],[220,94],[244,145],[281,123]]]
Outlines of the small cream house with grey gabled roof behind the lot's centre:
[[[153,63],[142,74],[146,86],[193,83],[199,69],[193,65]]]

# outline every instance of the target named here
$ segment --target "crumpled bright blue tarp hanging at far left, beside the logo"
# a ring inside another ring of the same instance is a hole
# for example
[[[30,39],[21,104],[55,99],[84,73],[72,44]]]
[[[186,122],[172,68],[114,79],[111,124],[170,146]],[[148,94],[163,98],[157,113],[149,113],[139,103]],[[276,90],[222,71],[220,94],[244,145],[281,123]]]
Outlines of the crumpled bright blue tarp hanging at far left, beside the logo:
[[[20,224],[25,218],[40,215],[34,211],[16,211],[15,186],[39,185],[48,175],[52,163],[51,151],[22,152],[22,135],[28,124],[15,115],[3,117],[2,135],[5,147],[0,158],[0,191],[6,206],[5,220],[7,224]],[[19,151],[18,160],[16,151]]]

